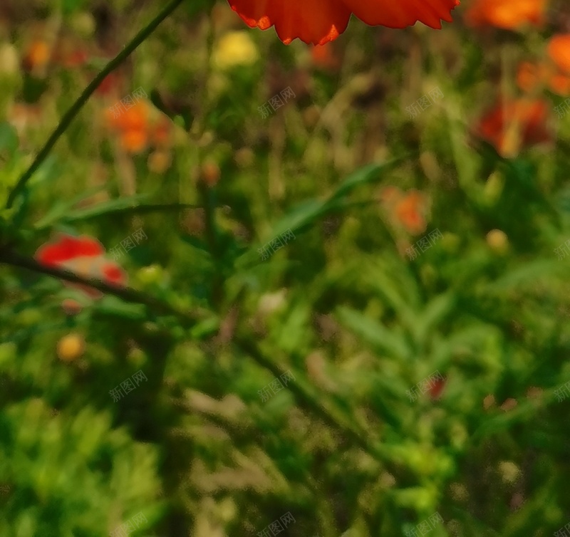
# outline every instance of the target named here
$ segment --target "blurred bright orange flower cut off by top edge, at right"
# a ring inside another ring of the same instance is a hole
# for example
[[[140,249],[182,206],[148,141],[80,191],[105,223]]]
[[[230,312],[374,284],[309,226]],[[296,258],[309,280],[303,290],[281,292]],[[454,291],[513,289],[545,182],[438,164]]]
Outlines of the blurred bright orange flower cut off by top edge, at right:
[[[470,26],[497,26],[516,30],[530,23],[544,23],[547,0],[475,0],[465,15]]]

